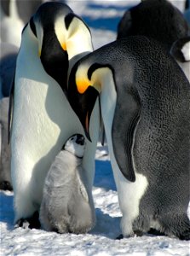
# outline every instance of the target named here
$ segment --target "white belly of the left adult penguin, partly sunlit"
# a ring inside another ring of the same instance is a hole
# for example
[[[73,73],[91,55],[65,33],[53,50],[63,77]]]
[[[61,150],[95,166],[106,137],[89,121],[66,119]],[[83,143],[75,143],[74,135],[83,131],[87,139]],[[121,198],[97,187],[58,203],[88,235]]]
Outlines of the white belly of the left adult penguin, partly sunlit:
[[[27,215],[32,207],[40,205],[44,178],[52,160],[80,126],[66,96],[53,79],[49,78],[50,85],[19,79],[19,86],[14,90],[11,169],[15,206],[18,205],[19,214],[23,212],[20,207],[23,204]],[[20,202],[20,194],[26,196],[23,202]]]

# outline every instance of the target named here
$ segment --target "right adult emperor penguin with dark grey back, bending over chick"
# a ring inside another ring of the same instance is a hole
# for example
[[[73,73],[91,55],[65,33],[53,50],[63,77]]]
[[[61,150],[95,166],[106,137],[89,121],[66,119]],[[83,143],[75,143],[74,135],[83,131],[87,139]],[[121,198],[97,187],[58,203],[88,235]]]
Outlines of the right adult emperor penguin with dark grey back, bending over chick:
[[[98,96],[123,235],[153,228],[190,239],[190,85],[181,68],[153,39],[117,40],[84,56],[69,78],[89,135]]]

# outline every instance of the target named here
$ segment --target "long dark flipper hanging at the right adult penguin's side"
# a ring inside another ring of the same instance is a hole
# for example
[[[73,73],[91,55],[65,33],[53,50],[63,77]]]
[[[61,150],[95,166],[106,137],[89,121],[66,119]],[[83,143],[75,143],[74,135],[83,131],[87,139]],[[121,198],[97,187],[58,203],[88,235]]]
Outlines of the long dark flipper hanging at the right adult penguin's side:
[[[135,92],[128,93],[125,99],[118,99],[112,123],[112,146],[120,171],[130,182],[135,182],[132,159],[135,128],[140,118],[141,105]]]

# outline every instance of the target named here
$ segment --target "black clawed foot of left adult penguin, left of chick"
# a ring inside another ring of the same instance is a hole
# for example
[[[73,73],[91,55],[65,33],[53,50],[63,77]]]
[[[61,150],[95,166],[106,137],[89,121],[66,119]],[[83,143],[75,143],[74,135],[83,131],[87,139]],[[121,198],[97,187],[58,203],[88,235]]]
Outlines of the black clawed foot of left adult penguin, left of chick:
[[[30,218],[20,218],[15,226],[15,228],[23,228],[23,229],[36,229],[39,230],[41,228],[41,224],[39,222],[39,213],[34,212],[32,217]]]

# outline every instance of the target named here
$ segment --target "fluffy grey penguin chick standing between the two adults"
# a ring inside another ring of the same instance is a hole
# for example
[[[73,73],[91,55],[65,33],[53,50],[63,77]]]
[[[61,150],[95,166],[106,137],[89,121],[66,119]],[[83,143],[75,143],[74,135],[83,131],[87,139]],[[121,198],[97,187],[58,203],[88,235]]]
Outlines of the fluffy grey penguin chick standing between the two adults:
[[[82,135],[70,137],[50,166],[40,208],[40,221],[45,230],[86,233],[95,224],[95,211],[89,205],[81,178],[84,147]]]

